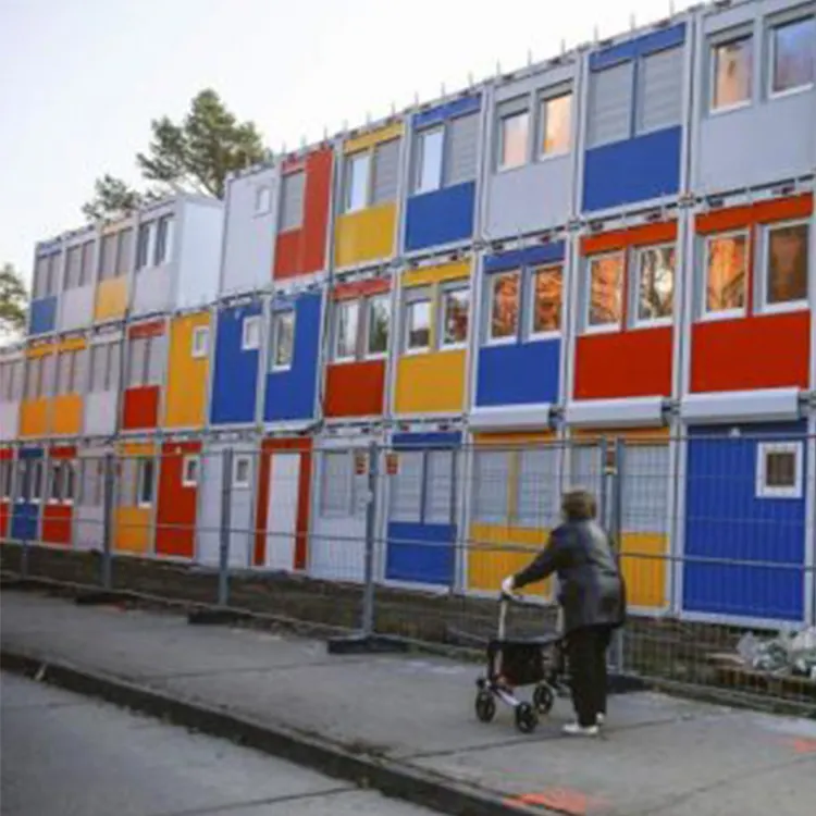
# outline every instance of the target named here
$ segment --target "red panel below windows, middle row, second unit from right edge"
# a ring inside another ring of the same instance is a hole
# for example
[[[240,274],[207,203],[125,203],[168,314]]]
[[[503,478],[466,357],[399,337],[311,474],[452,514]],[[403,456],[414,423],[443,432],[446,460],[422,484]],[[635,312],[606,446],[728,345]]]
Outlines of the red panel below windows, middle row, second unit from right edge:
[[[671,396],[671,326],[578,337],[574,399]]]

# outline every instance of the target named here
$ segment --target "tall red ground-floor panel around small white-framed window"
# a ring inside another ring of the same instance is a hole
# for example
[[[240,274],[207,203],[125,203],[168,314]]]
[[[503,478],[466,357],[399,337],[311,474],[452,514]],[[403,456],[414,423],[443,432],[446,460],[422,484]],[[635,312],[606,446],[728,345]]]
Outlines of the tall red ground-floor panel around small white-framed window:
[[[156,552],[193,558],[196,552],[197,487],[185,487],[184,457],[201,452],[198,442],[168,442],[161,448]],[[200,478],[200,469],[199,469]]]

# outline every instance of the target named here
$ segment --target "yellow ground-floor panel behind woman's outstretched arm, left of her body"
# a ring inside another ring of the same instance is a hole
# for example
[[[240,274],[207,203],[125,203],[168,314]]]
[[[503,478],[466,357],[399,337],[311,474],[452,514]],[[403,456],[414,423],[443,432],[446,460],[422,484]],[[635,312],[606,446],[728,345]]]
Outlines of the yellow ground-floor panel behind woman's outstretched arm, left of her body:
[[[527,567],[547,542],[549,530],[471,524],[468,589],[498,592],[502,581]],[[526,595],[552,596],[552,579],[524,588]]]

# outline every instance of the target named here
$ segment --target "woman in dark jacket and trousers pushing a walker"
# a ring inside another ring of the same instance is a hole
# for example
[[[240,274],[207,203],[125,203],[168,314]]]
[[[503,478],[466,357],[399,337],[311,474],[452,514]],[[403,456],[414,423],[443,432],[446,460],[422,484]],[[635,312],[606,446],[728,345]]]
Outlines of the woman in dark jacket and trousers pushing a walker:
[[[606,716],[606,650],[613,630],[626,618],[626,589],[609,536],[595,521],[595,498],[583,490],[566,493],[564,523],[547,546],[521,572],[506,578],[502,591],[512,594],[554,572],[564,609],[572,704],[578,721],[570,735],[594,737]]]

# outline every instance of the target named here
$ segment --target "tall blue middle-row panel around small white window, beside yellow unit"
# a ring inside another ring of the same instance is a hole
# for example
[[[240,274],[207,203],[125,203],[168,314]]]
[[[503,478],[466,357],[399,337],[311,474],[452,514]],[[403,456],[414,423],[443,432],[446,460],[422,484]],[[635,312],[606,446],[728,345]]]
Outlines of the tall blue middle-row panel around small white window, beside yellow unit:
[[[240,348],[244,318],[255,314],[261,314],[260,304],[227,307],[219,312],[210,398],[212,424],[255,422],[259,351]]]

